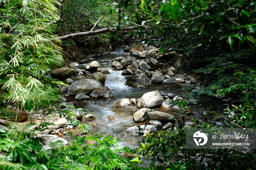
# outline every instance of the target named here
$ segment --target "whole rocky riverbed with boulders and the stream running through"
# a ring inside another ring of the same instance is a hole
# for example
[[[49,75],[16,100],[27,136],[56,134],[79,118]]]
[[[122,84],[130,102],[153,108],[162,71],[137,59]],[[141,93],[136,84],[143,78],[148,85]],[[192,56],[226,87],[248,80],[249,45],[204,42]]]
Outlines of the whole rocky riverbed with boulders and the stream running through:
[[[203,120],[206,116],[215,126],[223,125],[220,121],[225,118],[222,109],[231,102],[239,102],[237,99],[223,101],[206,96],[198,100],[188,99],[187,93],[204,88],[207,82],[196,74],[178,72],[175,67],[180,64],[180,55],[163,55],[147,44],[138,46],[129,47],[130,53],[117,52],[107,55],[108,58],[84,59],[80,64],[72,62],[67,67],[52,70],[48,76],[65,83],[60,88],[63,105],[49,113],[19,111],[18,121],[29,118],[37,124],[52,122],[48,130],[41,132],[44,134],[42,138],[49,134],[49,141],[59,137],[71,140],[68,132],[73,132],[73,136],[86,136],[88,131],[81,133],[77,130],[71,125],[70,117],[60,117],[60,111],[72,112],[75,116],[71,119],[89,124],[92,133],[105,132],[116,138],[131,139],[129,143],[138,141],[138,125],[142,129],[147,125],[143,131],[145,136],[157,127],[169,128],[176,124],[176,118],[183,116],[187,126],[193,124],[192,118]],[[170,107],[169,103],[182,100],[187,101],[189,107],[177,114],[181,108],[177,105]],[[16,108],[9,106],[9,109],[15,111]],[[80,114],[80,109],[88,109],[87,115]]]

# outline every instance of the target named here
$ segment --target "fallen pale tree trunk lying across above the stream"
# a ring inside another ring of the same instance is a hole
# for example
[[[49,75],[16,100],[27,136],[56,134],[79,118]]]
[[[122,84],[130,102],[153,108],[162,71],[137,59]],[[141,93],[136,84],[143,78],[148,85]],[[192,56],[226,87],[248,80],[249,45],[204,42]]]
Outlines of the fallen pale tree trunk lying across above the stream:
[[[126,31],[126,30],[132,30],[138,27],[126,27],[126,28],[121,28],[120,31]],[[117,31],[116,27],[112,27],[112,28],[103,28],[100,30],[95,30],[95,31],[88,31],[88,32],[79,32],[79,33],[73,33],[73,34],[68,34],[68,35],[64,35],[64,36],[58,36],[56,37],[57,39],[60,40],[67,40],[67,39],[73,39],[73,38],[81,38],[81,37],[85,37],[85,36],[91,36],[91,35],[98,35],[98,34],[103,34],[106,32],[111,32],[111,31]],[[54,38],[50,38],[50,41],[53,41]]]

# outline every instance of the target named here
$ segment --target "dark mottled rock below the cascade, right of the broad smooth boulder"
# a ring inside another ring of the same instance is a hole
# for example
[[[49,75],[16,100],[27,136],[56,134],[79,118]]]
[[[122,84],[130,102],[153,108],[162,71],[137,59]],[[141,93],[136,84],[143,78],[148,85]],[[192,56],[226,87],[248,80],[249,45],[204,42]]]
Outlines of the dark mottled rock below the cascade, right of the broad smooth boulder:
[[[90,97],[92,98],[97,98],[97,99],[110,99],[113,98],[113,94],[112,91],[104,86],[104,87],[99,87],[94,89],[91,93],[90,93]]]

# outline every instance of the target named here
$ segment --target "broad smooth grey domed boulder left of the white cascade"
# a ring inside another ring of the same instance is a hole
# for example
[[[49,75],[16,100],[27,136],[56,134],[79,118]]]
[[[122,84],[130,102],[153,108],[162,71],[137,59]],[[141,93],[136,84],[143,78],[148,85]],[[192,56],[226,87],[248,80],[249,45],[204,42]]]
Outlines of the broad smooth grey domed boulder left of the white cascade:
[[[68,94],[76,95],[78,93],[88,94],[96,88],[102,87],[101,82],[91,79],[74,81],[68,88]]]

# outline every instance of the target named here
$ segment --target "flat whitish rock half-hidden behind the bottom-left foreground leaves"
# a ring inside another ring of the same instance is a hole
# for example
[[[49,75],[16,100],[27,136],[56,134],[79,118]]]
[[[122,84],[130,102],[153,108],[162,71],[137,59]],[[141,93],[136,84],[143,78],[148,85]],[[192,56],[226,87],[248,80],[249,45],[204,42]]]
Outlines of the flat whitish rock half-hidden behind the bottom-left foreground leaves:
[[[65,140],[63,138],[58,138],[56,135],[40,135],[39,138],[42,138],[45,140],[45,143],[43,144],[43,148],[45,150],[50,150],[51,148],[58,147],[58,146],[51,147],[50,146],[51,142],[61,141],[61,142],[63,142],[64,145],[69,144],[69,142],[67,140]]]

